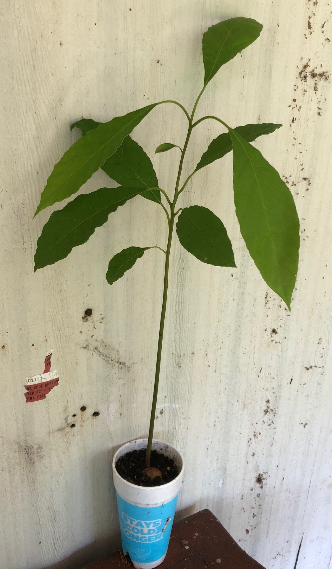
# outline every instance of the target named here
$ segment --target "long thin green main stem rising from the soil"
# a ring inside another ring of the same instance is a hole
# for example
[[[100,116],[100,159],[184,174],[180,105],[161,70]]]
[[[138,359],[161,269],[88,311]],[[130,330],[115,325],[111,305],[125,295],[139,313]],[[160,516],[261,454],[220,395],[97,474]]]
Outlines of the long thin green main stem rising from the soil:
[[[183,145],[183,150],[181,151],[181,158],[180,158],[180,163],[179,163],[177,182],[175,183],[174,199],[173,199],[173,202],[170,204],[169,236],[168,236],[168,240],[167,240],[166,259],[165,259],[165,273],[164,273],[164,277],[163,277],[163,296],[162,296],[162,307],[161,307],[161,316],[160,316],[160,324],[159,324],[157,362],[155,364],[154,388],[153,388],[153,399],[152,399],[152,405],[151,405],[149,438],[147,439],[147,447],[146,447],[146,455],[145,455],[145,464],[147,467],[150,466],[150,461],[151,461],[151,448],[152,448],[152,442],[153,442],[155,410],[157,409],[163,330],[164,330],[164,326],[165,326],[167,292],[168,292],[168,283],[169,283],[170,250],[171,250],[171,244],[172,244],[174,220],[175,220],[175,216],[179,212],[179,210],[178,210],[177,213],[175,213],[175,204],[177,203],[179,193],[181,193],[181,192],[179,192],[179,185],[180,185],[180,179],[181,179],[181,173],[182,173],[183,160],[185,159],[185,154],[186,154],[188,142],[189,142],[191,131],[192,131],[192,119],[194,118],[196,106],[198,105],[198,101],[199,101],[200,97],[202,96],[204,89],[205,89],[205,86],[203,87],[202,91],[199,93],[199,96],[196,99],[196,102],[195,102],[194,108],[192,109],[192,113],[191,113],[190,117],[189,117],[186,109],[184,109],[182,107],[182,105],[180,105],[179,103],[177,103],[175,101],[162,101],[162,102],[174,102],[178,106],[181,106],[181,108],[186,113],[189,125],[188,125],[186,141],[185,141],[185,144]],[[186,180],[186,182],[188,182],[188,181],[189,180]],[[182,187],[182,189],[184,189],[184,187]]]

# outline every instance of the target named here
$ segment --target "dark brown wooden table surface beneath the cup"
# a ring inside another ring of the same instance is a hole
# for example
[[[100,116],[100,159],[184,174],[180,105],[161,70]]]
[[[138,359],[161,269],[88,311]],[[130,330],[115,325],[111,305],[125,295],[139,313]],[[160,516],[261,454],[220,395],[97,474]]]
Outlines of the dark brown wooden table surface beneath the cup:
[[[131,567],[120,551],[82,569]],[[233,540],[210,510],[174,523],[166,559],[160,569],[264,569]]]

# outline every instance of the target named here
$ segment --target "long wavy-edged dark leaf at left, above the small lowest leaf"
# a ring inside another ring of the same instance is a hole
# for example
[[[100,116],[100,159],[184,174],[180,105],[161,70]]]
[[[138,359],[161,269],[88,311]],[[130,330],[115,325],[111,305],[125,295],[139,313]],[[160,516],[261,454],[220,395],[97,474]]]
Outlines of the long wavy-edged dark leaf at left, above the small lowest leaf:
[[[101,188],[80,195],[52,213],[43,227],[35,253],[35,271],[64,259],[73,247],[88,241],[119,205],[142,192],[141,188]]]

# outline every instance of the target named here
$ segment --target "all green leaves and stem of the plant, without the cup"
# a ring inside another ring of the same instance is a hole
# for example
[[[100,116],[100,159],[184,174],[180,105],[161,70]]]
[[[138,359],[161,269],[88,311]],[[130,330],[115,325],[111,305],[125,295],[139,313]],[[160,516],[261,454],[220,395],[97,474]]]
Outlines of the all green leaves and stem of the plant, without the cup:
[[[232,245],[219,217],[209,209],[198,205],[179,208],[178,211],[175,206],[195,172],[222,158],[231,150],[233,150],[234,200],[241,234],[264,281],[290,309],[300,245],[298,216],[289,188],[259,150],[250,144],[257,137],[272,133],[281,125],[249,124],[232,129],[222,119],[213,116],[202,117],[194,122],[196,107],[209,81],[222,65],[254,42],[261,30],[261,24],[250,18],[232,18],[208,28],[202,39],[204,86],[195,101],[192,113],[188,113],[177,101],[162,101],[178,105],[188,120],[188,131],[183,147],[178,146],[181,158],[173,196],[169,196],[159,188],[150,158],[129,136],[134,127],[155,105],[161,104],[156,103],[125,116],[115,117],[106,123],[85,118],[75,122],[72,128],[77,126],[83,137],[75,142],[55,165],[36,209],[35,215],[42,209],[72,196],[99,168],[102,168],[112,180],[121,184],[118,188],[101,188],[87,195],[80,195],[62,210],[52,213],[38,239],[35,270],[67,257],[73,247],[85,243],[96,227],[108,220],[110,212],[116,211],[119,205],[136,195],[144,195],[147,199],[157,202],[166,213],[169,229],[167,246],[162,249],[157,245],[151,245],[165,253],[165,272],[146,451],[147,466],[150,465],[157,405],[171,243],[179,212],[181,211],[176,224],[176,233],[183,248],[204,263],[219,267],[235,267]],[[230,96],[232,96],[231,89]],[[210,143],[195,170],[180,186],[192,130],[199,122],[206,119],[219,121],[228,132],[220,134]],[[159,129],[156,128],[154,131],[158,132]],[[166,152],[176,146],[173,143],[163,143],[157,147],[155,153]],[[222,204],[218,204],[218,208],[222,209]],[[129,247],[114,255],[106,273],[108,283],[112,284],[122,277],[125,271],[142,257],[146,249],[150,247]]]

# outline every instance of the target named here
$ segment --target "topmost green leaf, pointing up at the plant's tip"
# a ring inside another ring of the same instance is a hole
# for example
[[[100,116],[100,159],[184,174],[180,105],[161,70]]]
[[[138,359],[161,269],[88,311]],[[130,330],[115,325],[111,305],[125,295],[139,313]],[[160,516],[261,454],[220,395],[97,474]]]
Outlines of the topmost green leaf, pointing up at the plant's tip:
[[[211,26],[203,34],[204,85],[237,53],[255,42],[263,26],[251,18],[231,18]]]

